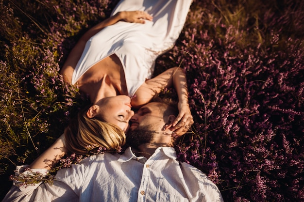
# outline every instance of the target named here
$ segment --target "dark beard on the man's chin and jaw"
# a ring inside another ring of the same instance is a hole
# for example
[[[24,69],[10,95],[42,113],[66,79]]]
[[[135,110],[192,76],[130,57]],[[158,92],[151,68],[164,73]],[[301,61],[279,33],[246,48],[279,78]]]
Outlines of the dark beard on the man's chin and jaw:
[[[138,148],[141,144],[150,143],[156,132],[148,128],[149,126],[138,126],[133,131],[129,130],[126,135],[127,145]]]

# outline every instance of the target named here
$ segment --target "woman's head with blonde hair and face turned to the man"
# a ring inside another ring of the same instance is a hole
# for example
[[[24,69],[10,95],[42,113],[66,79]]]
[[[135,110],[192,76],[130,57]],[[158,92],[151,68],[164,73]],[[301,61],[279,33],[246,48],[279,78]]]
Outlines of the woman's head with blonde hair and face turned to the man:
[[[103,101],[105,103],[101,105],[101,110],[107,112],[106,116],[100,113],[94,118],[88,118],[87,108],[85,108],[70,122],[64,132],[66,143],[61,145],[66,152],[87,155],[88,149],[94,148],[119,151],[125,144],[125,130],[128,129],[128,122],[134,115],[130,97],[118,95],[106,97]]]

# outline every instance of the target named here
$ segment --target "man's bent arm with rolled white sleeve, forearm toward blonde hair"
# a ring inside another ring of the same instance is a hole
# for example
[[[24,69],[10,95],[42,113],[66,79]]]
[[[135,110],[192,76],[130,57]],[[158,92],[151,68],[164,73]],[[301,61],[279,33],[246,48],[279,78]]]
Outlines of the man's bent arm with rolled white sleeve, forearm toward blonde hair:
[[[2,202],[31,202],[36,198],[39,199],[38,201],[51,202],[50,198],[56,198],[62,193],[66,193],[66,188],[70,188],[67,185],[62,185],[58,187],[58,190],[53,193],[55,195],[52,196],[52,192],[47,193],[47,187],[50,185],[47,183],[41,184],[41,180],[39,180],[41,177],[45,176],[48,173],[53,165],[64,154],[64,135],[61,135],[60,138],[58,138],[42,155],[38,156],[38,158],[35,159],[31,165],[17,166],[14,179],[16,181],[14,181],[14,186],[12,186],[12,188],[9,190]],[[20,177],[24,179],[21,180],[19,179]],[[31,182],[26,180],[28,178],[31,179]],[[56,187],[53,186],[53,188]],[[63,190],[61,191],[61,189]]]

